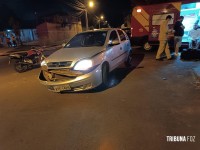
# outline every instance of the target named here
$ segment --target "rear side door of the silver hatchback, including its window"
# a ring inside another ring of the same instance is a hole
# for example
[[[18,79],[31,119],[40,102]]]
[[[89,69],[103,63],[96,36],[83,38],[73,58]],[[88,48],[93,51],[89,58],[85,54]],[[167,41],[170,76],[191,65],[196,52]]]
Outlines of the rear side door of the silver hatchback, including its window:
[[[130,41],[122,30],[117,30],[120,37],[119,61],[124,62],[130,50]]]

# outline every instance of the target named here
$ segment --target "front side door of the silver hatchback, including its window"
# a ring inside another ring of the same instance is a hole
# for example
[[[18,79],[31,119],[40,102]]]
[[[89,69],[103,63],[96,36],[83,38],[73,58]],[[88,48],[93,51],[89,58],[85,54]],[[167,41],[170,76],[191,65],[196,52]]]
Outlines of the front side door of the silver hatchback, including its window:
[[[109,51],[110,51],[110,55],[111,55],[111,60],[110,60],[110,70],[113,70],[115,69],[116,67],[118,67],[119,65],[119,52],[120,52],[120,48],[121,48],[121,45],[120,45],[120,40],[119,40],[119,37],[118,37],[118,34],[115,30],[111,31],[110,33],[110,37],[109,37],[109,41],[112,42],[112,41],[118,41],[118,44],[116,45],[111,45],[109,46]]]

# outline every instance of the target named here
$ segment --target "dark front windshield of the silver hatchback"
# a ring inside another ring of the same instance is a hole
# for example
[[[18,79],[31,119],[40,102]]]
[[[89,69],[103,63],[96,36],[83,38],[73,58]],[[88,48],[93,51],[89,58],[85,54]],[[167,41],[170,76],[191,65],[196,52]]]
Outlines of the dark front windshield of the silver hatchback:
[[[74,36],[65,48],[103,46],[106,40],[107,31],[86,32]]]

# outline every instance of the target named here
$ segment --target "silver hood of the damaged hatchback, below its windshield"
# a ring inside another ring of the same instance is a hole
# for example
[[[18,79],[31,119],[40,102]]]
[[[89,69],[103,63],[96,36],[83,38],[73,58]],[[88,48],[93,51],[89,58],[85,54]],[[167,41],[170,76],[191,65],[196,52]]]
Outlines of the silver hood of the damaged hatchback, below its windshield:
[[[47,62],[62,62],[73,61],[76,62],[83,58],[90,58],[93,55],[101,52],[102,47],[77,47],[77,48],[62,48],[53,54],[51,54],[46,61]]]

